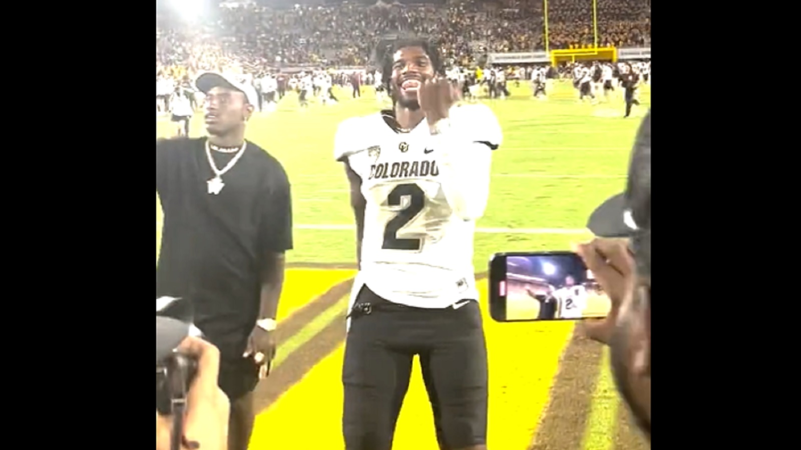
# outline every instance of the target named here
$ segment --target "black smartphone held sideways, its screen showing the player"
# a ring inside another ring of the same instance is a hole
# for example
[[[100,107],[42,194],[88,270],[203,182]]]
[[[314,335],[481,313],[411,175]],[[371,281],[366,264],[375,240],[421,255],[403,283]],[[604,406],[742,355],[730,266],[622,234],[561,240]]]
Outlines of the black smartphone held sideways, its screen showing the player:
[[[610,308],[572,251],[497,253],[489,261],[489,313],[497,322],[603,318]]]

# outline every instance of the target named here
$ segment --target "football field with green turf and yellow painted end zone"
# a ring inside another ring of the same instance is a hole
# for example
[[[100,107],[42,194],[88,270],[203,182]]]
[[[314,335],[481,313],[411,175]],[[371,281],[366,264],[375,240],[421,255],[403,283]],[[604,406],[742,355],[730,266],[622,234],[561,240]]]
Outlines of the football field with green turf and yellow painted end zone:
[[[629,119],[622,118],[621,98],[580,103],[568,82],[557,83],[545,101],[530,98],[525,83],[513,87],[510,98],[483,101],[495,111],[505,140],[494,152],[489,207],[477,225],[477,272],[486,271],[495,252],[566,250],[590,238],[588,215],[624,187],[639,118],[650,107],[650,87],[640,90],[642,106]],[[248,125],[248,139],[288,172],[296,226],[279,311],[279,356],[256,391],[261,413],[252,448],[344,448],[338,370],[355,232],[332,142],[341,120],[379,108],[371,91],[352,99],[343,89],[340,103],[312,102],[308,110],[290,94]],[[192,135],[203,135],[201,115],[192,125]],[[172,135],[173,124],[157,119],[156,132]],[[157,254],[159,238],[157,203]],[[480,286],[486,290],[485,281]],[[606,352],[575,334],[574,323],[494,323],[485,315],[485,329],[489,448],[644,448],[614,392]],[[395,450],[437,448],[419,379],[409,388]]]

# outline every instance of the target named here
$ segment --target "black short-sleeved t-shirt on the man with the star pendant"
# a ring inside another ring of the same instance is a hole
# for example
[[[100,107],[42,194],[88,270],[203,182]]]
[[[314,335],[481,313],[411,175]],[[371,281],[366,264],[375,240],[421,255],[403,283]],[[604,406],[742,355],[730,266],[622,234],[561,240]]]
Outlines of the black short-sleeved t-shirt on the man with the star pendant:
[[[191,299],[195,325],[223,356],[241,355],[260,307],[260,271],[292,249],[292,202],[284,167],[255,143],[208,193],[206,139],[156,142],[156,191],[164,212],[156,297]],[[234,154],[211,152],[220,170]]]

